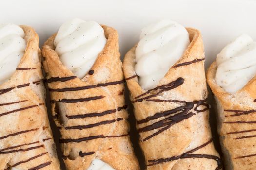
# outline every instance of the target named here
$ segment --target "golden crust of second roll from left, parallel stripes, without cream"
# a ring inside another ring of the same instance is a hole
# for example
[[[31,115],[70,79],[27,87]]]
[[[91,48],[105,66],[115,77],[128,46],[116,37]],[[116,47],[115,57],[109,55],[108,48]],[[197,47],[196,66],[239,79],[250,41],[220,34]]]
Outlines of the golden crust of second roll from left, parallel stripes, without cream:
[[[82,80],[59,60],[53,45],[56,34],[45,42],[42,53],[52,114],[62,135],[61,147],[69,170],[86,170],[95,157],[116,170],[138,170],[123,96],[118,33],[102,27],[106,46],[91,68],[94,73],[87,73]]]

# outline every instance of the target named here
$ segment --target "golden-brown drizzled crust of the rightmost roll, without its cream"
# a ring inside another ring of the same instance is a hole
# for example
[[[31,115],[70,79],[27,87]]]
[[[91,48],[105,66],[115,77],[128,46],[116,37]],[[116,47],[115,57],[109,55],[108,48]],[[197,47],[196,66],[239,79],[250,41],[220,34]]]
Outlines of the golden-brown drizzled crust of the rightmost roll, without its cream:
[[[215,81],[217,66],[212,63],[207,82],[217,102],[218,133],[227,170],[254,170],[256,167],[256,77],[235,94]]]

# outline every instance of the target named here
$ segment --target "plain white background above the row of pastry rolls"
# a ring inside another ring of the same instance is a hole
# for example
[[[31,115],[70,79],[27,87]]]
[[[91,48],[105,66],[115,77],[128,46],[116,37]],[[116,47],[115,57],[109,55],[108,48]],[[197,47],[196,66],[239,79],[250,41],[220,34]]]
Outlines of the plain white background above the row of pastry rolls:
[[[118,30],[122,57],[141,28],[172,19],[202,32],[206,67],[236,36],[256,40],[256,0],[4,0],[0,14],[0,22],[34,27],[41,45],[68,19],[95,20]]]

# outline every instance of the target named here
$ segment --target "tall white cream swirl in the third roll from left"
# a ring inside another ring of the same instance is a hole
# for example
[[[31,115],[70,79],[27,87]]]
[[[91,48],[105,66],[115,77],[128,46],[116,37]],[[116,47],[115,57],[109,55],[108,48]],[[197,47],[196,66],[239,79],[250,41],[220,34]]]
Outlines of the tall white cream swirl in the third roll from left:
[[[143,28],[135,51],[135,72],[140,86],[145,90],[156,87],[189,43],[187,30],[171,20]]]

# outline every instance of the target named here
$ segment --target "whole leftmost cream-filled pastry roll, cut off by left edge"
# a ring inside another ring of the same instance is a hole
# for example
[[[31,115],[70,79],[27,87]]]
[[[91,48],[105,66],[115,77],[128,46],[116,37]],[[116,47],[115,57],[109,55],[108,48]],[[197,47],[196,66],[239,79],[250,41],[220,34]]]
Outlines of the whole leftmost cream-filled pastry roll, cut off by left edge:
[[[60,170],[45,107],[39,38],[0,25],[0,170]]]

